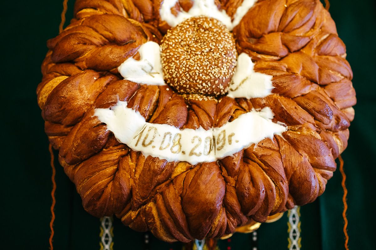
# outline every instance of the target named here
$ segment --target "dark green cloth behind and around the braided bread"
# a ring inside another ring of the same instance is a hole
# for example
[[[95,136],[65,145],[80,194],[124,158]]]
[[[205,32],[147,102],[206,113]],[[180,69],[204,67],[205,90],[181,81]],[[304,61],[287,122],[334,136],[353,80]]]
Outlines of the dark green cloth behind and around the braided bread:
[[[73,12],[69,1],[67,19]],[[51,168],[44,123],[35,89],[46,40],[58,34],[62,1],[2,1],[1,100],[2,126],[2,247],[48,249]],[[350,249],[376,249],[375,226],[375,113],[376,3],[374,0],[331,0],[333,19],[347,45],[347,59],[357,92],[355,120],[343,153],[349,189]],[[4,33],[5,31],[5,33]],[[3,105],[4,107],[4,105]],[[55,249],[99,249],[99,219],[87,214],[73,184],[57,165]],[[301,208],[302,249],[344,249],[342,194],[339,171],[326,192]],[[114,249],[142,249],[143,233],[133,232],[115,219]],[[287,249],[287,216],[258,230],[259,249]],[[232,249],[250,249],[249,235],[235,234]],[[226,241],[221,241],[221,250]],[[152,238],[152,249],[181,249]],[[5,249],[5,248],[3,248]]]

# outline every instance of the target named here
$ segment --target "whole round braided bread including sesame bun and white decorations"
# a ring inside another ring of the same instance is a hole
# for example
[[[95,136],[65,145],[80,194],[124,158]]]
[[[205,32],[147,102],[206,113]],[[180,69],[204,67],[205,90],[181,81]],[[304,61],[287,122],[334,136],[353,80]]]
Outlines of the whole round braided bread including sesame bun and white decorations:
[[[77,0],[47,46],[38,104],[83,207],[161,240],[313,202],[347,146],[353,75],[318,0]]]

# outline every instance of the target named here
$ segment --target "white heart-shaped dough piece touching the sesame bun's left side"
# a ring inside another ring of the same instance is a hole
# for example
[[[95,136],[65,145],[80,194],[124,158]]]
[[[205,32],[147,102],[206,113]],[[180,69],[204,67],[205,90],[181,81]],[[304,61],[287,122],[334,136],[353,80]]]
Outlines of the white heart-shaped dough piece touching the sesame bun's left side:
[[[156,42],[146,42],[138,49],[140,60],[133,57],[118,67],[124,79],[150,85],[165,85],[161,63],[161,49]]]

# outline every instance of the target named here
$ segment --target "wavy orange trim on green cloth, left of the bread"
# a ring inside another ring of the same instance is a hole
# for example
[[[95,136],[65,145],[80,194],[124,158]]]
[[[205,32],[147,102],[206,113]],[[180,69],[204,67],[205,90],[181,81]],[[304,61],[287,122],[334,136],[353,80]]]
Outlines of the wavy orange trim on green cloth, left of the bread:
[[[68,10],[68,0],[63,1],[63,11],[61,12],[61,22],[59,25],[59,33],[63,31],[64,23],[65,23],[65,13],[67,13]],[[51,221],[50,221],[50,229],[51,229],[51,234],[49,238],[49,243],[50,243],[50,249],[53,250],[53,235],[55,234],[53,230],[53,222],[55,221],[55,204],[56,204],[56,198],[55,198],[55,191],[56,191],[56,181],[55,181],[55,175],[56,175],[56,169],[55,165],[53,164],[53,161],[55,159],[52,151],[52,144],[49,145],[49,151],[50,151],[50,156],[51,156],[51,168],[52,168],[52,191],[51,191],[51,197],[52,197],[52,204],[51,204]]]

